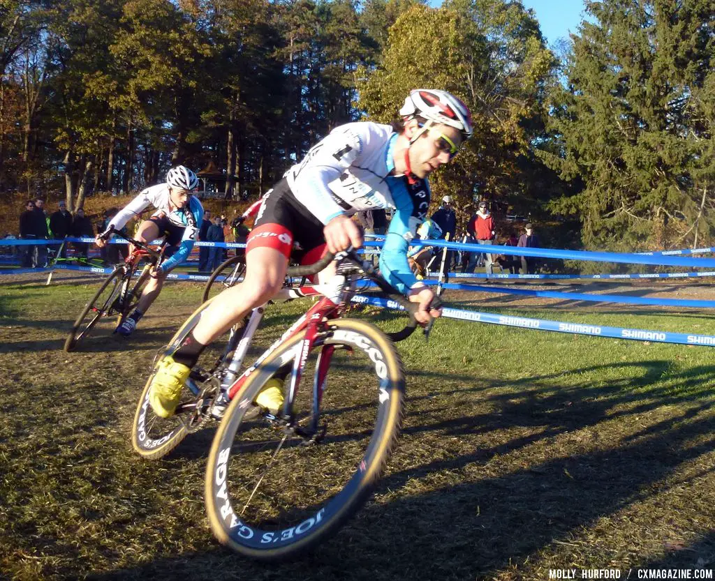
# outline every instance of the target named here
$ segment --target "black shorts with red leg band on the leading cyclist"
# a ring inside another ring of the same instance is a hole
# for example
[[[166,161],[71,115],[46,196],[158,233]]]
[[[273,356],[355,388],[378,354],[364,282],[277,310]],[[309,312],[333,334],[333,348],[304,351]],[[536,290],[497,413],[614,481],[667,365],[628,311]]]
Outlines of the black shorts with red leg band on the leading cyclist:
[[[246,253],[254,248],[275,248],[288,259],[312,264],[325,250],[322,229],[322,222],[298,202],[284,178],[264,197]]]

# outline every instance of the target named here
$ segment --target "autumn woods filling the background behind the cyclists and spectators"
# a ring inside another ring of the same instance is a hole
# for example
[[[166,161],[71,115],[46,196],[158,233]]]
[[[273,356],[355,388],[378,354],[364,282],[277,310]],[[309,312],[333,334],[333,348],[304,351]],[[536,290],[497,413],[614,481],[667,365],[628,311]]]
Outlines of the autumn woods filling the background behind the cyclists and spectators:
[[[227,199],[257,197],[335,126],[434,86],[475,118],[433,180],[460,219],[486,198],[580,222],[587,248],[709,244],[714,14],[590,2],[557,58],[518,0],[0,0],[0,196],[74,210],[213,162]]]

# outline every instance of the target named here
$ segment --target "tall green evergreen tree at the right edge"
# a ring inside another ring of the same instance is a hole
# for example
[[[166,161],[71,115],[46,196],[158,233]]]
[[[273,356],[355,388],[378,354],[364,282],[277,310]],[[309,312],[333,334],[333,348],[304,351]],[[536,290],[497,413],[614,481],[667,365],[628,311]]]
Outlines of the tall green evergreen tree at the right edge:
[[[592,249],[655,249],[715,235],[713,0],[590,2],[573,36],[566,86],[551,94],[556,152],[583,191],[576,214]]]

